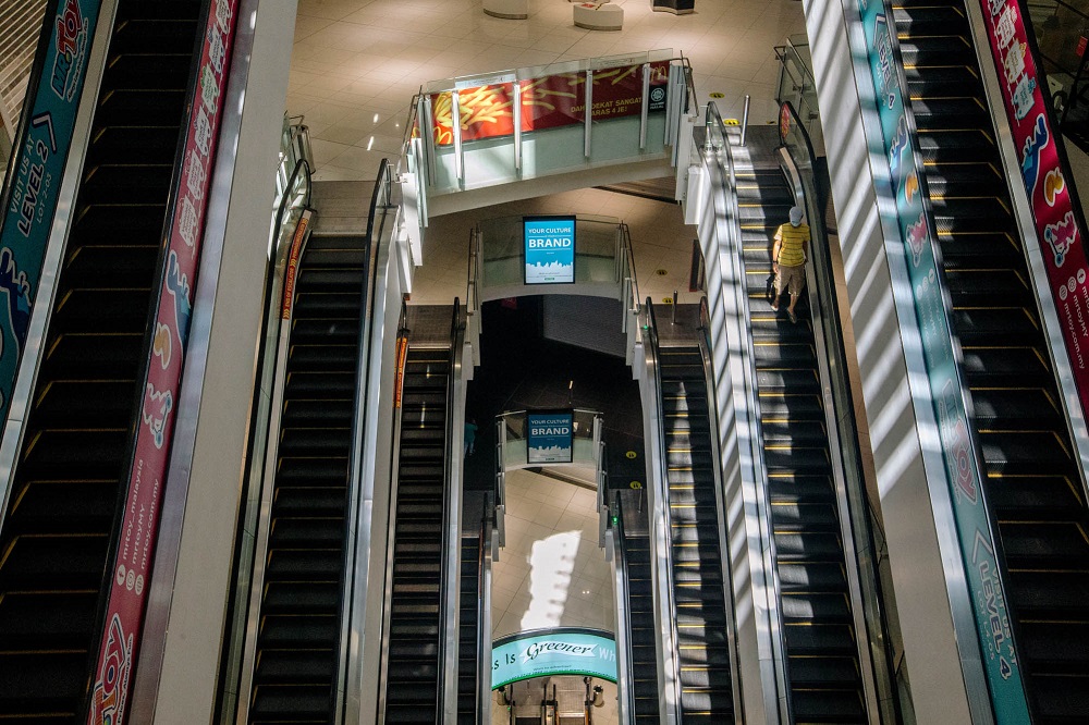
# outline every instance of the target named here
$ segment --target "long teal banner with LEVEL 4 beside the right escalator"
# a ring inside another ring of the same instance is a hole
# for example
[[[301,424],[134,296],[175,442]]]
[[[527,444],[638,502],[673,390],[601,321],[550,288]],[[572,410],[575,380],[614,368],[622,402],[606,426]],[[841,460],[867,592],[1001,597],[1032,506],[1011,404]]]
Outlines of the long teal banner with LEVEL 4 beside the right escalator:
[[[980,466],[968,432],[953,335],[945,312],[934,256],[933,222],[919,188],[922,159],[915,156],[908,133],[900,59],[882,0],[858,0],[866,38],[874,102],[881,123],[882,150],[889,162],[895,214],[886,219],[900,230],[911,302],[922,335],[922,353],[931,400],[941,434],[942,454],[953,501],[968,591],[982,651],[982,664],[999,723],[1029,722],[1020,664],[1014,648],[1006,599],[991,538],[990,519],[980,493]],[[882,175],[879,171],[878,177]]]

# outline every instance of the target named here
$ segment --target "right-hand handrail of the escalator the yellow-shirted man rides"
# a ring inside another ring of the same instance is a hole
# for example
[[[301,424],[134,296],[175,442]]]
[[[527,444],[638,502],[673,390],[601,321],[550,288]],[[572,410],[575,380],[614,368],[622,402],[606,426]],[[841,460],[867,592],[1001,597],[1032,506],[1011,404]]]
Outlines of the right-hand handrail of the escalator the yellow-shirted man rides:
[[[806,163],[812,173],[817,156],[813,152],[809,133],[791,101],[783,101],[781,108],[790,113],[792,128],[797,130],[805,142]],[[782,126],[780,127],[782,128]],[[781,140],[786,156],[792,158],[792,163],[796,168],[797,163],[793,160],[786,139],[781,137]],[[800,175],[799,170],[799,182]],[[806,273],[812,279],[807,284],[806,294],[809,297],[810,308],[815,310],[817,319],[820,321],[819,325],[813,325],[813,337],[818,351],[823,352],[823,354],[817,355],[820,380],[828,383],[821,388],[829,433],[829,453],[833,462],[840,460],[840,465],[833,466],[832,471],[836,484],[836,499],[841,504],[840,513],[844,519],[844,523],[841,523],[841,528],[847,529],[844,534],[849,534],[844,536],[845,542],[852,541],[856,550],[873,552],[877,551],[873,541],[873,527],[879,526],[881,519],[874,512],[873,502],[866,495],[861,446],[858,444],[858,427],[855,421],[854,395],[847,379],[847,355],[844,346],[843,324],[824,224],[824,204],[820,198],[819,189],[817,189],[816,180],[813,180],[813,191],[817,194],[817,199],[805,198],[808,195],[805,194],[803,184],[803,197],[807,207],[806,216],[809,219],[813,239],[809,246],[809,257],[812,263],[806,266]],[[821,244],[816,244],[817,241],[821,241]],[[825,309],[827,314],[822,311]],[[831,364],[829,364],[830,359]],[[836,445],[832,445],[833,442]],[[847,546],[844,546],[844,553],[848,553]],[[892,638],[889,636],[885,607],[874,568],[858,566],[856,561],[847,573],[848,577],[852,574],[858,577],[859,602],[853,602],[853,604],[861,604],[862,611],[858,614],[862,615],[860,624],[865,626],[866,631],[865,642],[862,642],[861,637],[857,638],[859,644],[878,641],[883,655],[874,656],[872,647],[859,647],[859,656],[862,658],[860,665],[864,681],[868,679],[867,674],[869,674],[869,678],[872,678],[872,687],[869,689],[877,693],[876,700],[867,697],[866,703],[867,708],[874,714],[881,711],[883,703],[888,703],[886,706],[891,709],[891,713],[888,713],[890,717],[898,718],[901,716],[900,699],[895,697],[892,686],[892,673],[894,672]]]

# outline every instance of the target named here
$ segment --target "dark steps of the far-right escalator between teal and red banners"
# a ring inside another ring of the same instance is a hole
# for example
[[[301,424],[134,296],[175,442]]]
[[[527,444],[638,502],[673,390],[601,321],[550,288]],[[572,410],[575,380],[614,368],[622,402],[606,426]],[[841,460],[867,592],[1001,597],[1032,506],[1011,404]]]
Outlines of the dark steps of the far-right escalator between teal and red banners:
[[[1089,712],[1089,516],[962,2],[894,3],[1033,721]]]

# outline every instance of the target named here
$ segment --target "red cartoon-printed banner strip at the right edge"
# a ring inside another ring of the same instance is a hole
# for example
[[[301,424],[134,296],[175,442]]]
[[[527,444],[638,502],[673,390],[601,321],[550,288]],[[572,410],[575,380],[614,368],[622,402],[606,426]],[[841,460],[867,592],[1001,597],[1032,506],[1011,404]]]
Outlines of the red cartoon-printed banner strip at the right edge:
[[[1089,415],[1089,260],[1048,118],[1041,88],[1045,79],[1017,0],[980,4],[1081,410]]]

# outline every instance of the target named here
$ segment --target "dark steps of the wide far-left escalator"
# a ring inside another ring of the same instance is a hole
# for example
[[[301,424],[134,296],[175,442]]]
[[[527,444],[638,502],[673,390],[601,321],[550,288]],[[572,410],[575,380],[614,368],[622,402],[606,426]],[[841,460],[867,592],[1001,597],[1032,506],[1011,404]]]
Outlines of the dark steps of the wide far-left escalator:
[[[86,717],[201,4],[119,3],[0,519],[3,720]]]

